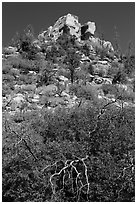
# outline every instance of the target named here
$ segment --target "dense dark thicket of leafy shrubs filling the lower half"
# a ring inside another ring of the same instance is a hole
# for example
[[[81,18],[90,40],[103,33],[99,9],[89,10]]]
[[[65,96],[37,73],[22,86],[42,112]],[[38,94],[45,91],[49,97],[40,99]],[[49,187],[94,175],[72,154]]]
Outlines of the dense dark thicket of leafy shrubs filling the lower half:
[[[132,202],[134,110],[105,109],[99,113],[83,104],[53,115],[27,114],[22,130],[16,124],[4,126],[3,201]],[[85,165],[82,158],[87,158]]]

